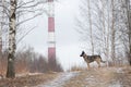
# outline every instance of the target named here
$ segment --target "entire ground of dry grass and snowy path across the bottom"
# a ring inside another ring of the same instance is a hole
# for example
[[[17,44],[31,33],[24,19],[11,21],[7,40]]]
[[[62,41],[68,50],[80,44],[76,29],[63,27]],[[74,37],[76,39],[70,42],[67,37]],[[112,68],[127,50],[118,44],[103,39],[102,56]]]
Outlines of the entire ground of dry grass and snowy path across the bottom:
[[[0,87],[131,87],[131,67],[100,67],[3,78],[0,79]]]

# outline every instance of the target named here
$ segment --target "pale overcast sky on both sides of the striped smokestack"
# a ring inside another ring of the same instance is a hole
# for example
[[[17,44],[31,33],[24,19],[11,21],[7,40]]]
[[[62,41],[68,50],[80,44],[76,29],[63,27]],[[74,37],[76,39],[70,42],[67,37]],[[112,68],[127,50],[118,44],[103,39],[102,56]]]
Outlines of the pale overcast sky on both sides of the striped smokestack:
[[[55,29],[57,58],[64,70],[72,65],[83,65],[80,53],[80,35],[75,30],[75,17],[79,13],[81,0],[61,0],[55,4]],[[37,17],[33,23],[37,27],[23,39],[23,44],[34,47],[35,51],[47,57],[48,51],[48,16]],[[32,26],[32,25],[31,25]]]

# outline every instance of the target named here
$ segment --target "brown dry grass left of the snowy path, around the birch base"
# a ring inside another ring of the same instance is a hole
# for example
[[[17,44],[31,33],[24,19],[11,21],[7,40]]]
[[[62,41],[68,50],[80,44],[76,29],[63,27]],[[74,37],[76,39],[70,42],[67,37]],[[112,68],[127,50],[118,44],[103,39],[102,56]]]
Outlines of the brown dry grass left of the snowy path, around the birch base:
[[[51,74],[38,74],[38,75],[26,75],[16,77],[14,79],[0,79],[0,87],[33,87],[39,84],[44,84],[58,76],[56,73]]]

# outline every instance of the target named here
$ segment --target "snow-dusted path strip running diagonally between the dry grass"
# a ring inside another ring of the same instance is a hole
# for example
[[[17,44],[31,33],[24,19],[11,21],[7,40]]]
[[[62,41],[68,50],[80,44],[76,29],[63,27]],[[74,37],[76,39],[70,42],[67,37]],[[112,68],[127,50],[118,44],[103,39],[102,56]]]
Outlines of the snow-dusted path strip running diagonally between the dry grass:
[[[76,76],[78,74],[79,72],[62,73],[59,77],[57,77],[52,82],[36,87],[62,87],[67,80],[69,80],[71,77]]]

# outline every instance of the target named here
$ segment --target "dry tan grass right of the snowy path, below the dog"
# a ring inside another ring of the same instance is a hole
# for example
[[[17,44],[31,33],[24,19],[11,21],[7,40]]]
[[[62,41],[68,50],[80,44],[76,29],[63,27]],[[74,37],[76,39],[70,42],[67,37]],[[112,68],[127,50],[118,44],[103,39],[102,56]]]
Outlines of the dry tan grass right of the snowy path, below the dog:
[[[102,67],[82,71],[80,75],[68,80],[63,87],[111,87],[111,85],[116,84],[116,82],[118,82],[120,78],[120,82],[124,87],[130,87],[131,74],[121,74],[122,75],[120,76],[120,74],[117,73],[116,67]],[[124,79],[122,76],[124,76]]]

